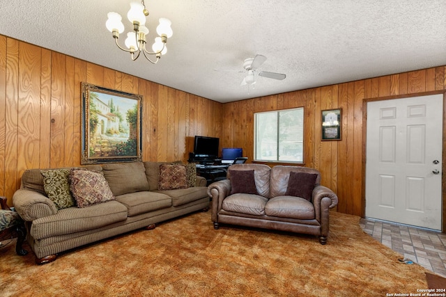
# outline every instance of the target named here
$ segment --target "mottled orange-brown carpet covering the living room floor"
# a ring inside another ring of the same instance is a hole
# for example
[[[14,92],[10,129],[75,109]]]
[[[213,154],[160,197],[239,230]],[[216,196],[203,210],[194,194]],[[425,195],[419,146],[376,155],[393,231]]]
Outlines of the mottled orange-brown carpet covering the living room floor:
[[[428,289],[426,269],[330,213],[330,236],[222,226],[210,212],[139,230],[34,264],[0,249],[0,296],[386,296]],[[29,250],[28,246],[25,246]]]

